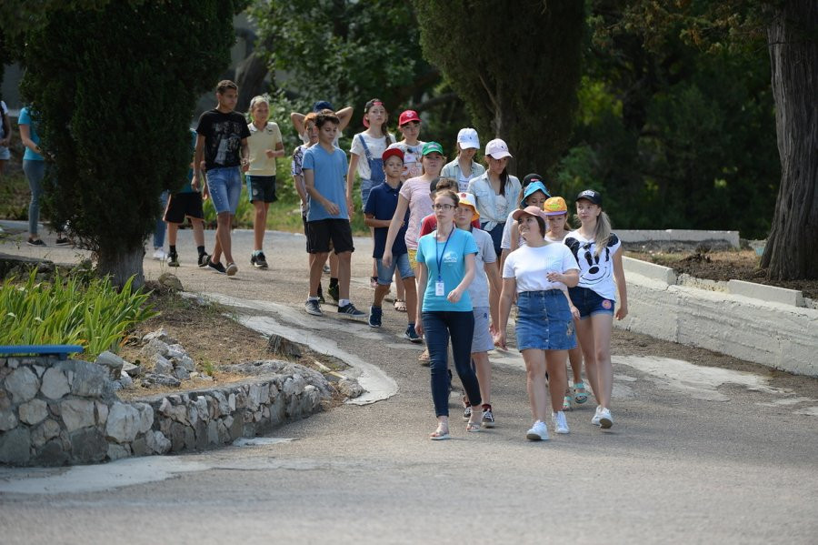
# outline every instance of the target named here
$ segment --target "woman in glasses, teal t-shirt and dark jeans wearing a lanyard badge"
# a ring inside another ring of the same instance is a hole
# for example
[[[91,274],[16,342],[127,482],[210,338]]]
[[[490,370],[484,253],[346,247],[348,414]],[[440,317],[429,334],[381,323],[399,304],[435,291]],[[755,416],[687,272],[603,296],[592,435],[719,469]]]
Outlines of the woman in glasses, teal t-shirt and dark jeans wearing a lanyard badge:
[[[452,338],[454,368],[472,407],[480,408],[480,386],[471,365],[474,314],[469,284],[474,279],[477,244],[468,231],[454,227],[457,194],[450,189],[434,195],[437,229],[417,242],[418,311],[415,330],[426,336],[432,359],[432,400],[437,429],[430,439],[449,439],[448,338]],[[425,287],[425,289],[423,288]],[[466,431],[480,430],[480,410],[474,409]]]

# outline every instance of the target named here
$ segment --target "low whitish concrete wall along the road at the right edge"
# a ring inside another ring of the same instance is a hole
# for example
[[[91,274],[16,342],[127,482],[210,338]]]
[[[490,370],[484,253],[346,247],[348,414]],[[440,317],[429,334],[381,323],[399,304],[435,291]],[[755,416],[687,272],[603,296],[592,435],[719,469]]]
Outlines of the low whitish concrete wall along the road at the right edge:
[[[629,314],[616,326],[818,377],[818,309],[796,306],[801,292],[733,281],[726,291],[679,286],[673,269],[623,262]]]

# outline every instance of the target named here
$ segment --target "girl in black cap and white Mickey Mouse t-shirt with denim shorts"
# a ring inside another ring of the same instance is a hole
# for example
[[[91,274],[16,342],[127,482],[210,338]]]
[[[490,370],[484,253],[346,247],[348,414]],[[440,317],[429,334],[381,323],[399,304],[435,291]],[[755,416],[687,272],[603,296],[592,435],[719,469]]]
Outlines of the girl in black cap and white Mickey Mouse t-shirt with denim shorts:
[[[622,266],[622,244],[611,232],[611,220],[602,209],[602,196],[586,189],[576,197],[576,214],[582,226],[564,239],[580,266],[579,284],[570,288],[579,309],[576,335],[585,358],[585,372],[597,407],[591,423],[602,429],[613,426],[611,391],[611,329],[613,318],[628,314],[628,294]],[[615,285],[614,285],[615,280]],[[619,308],[615,292],[619,292]]]

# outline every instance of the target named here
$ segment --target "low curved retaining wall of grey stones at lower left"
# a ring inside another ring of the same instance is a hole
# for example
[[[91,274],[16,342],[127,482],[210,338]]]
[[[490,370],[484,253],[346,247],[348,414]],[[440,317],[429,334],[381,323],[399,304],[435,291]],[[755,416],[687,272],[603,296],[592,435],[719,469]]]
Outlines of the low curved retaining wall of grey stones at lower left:
[[[254,437],[322,407],[320,373],[279,361],[220,388],[133,402],[108,371],[55,358],[0,358],[0,463],[60,466],[201,450]]]

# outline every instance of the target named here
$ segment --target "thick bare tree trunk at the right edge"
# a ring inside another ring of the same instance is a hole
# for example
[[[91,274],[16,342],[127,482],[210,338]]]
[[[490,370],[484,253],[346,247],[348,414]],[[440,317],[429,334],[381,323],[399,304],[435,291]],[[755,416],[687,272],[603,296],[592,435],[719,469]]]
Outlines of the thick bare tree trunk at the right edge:
[[[767,28],[781,187],[761,266],[767,278],[818,278],[818,2],[787,0]]]

